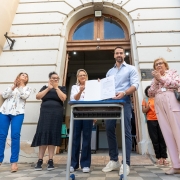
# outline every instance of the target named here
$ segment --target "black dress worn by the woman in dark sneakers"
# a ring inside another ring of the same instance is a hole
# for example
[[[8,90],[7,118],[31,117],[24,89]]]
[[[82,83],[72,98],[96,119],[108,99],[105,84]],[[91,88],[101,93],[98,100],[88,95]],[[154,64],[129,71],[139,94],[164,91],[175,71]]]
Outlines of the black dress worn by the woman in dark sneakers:
[[[43,86],[41,91],[47,86]],[[58,87],[66,94],[66,88]],[[31,147],[42,145],[59,146],[61,142],[61,128],[63,121],[63,102],[55,89],[51,89],[43,98],[40,108],[40,116]]]

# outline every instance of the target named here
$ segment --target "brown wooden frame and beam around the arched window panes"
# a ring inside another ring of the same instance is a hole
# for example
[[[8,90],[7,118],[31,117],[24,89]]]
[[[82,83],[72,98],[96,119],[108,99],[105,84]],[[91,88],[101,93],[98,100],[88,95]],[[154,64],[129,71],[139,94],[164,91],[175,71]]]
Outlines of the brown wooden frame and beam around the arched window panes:
[[[125,38],[123,39],[104,39],[104,20],[102,18],[96,18],[94,15],[89,15],[78,20],[70,29],[67,51],[82,51],[82,50],[113,50],[116,46],[122,46],[124,49],[130,49],[129,33],[124,23],[114,16],[103,14],[104,17],[113,18],[124,31]],[[73,40],[73,34],[76,28],[88,18],[94,18],[94,39],[93,40]],[[100,38],[100,40],[97,40]],[[98,48],[100,47],[100,48]]]

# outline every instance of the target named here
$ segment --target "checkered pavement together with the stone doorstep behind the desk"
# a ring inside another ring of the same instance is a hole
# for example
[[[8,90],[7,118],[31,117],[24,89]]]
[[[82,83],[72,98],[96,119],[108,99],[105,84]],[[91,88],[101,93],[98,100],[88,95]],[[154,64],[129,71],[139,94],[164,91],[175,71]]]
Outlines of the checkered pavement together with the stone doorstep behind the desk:
[[[34,164],[19,164],[18,172],[10,173],[11,165],[2,164],[0,166],[0,180],[65,180],[66,159],[66,154],[56,156],[56,168],[53,171],[47,171],[46,164],[43,164],[43,171],[34,171]],[[121,156],[119,156],[119,159],[121,159]],[[93,154],[91,172],[82,173],[80,169],[75,171],[76,180],[118,180],[119,170],[109,173],[101,171],[108,161],[107,154]],[[132,154],[131,162],[128,180],[180,180],[180,174],[165,175],[164,172],[169,167],[155,166],[147,156]]]

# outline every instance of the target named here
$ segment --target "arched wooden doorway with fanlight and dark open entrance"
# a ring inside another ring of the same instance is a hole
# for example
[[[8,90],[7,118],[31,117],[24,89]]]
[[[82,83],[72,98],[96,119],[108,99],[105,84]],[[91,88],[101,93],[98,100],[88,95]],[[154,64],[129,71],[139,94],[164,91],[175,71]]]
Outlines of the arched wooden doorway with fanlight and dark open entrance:
[[[125,61],[132,64],[130,56],[130,40],[128,30],[116,17],[104,14],[101,18],[86,16],[77,21],[71,28],[67,41],[67,58],[64,84],[70,88],[76,81],[76,71],[86,69],[89,79],[104,78],[115,61],[113,50],[116,46],[124,47]],[[66,111],[66,122],[69,120]],[[101,128],[103,129],[103,123]],[[117,127],[121,144],[121,133]],[[104,129],[103,129],[104,130]],[[105,134],[105,132],[104,132]],[[106,148],[106,147],[104,147]]]

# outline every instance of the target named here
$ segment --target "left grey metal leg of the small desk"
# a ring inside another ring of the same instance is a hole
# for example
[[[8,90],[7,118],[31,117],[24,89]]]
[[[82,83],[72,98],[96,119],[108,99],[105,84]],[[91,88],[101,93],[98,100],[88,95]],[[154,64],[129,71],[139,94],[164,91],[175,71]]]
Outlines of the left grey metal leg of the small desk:
[[[71,108],[71,119],[70,119],[70,128],[69,128],[69,143],[68,143],[68,157],[67,157],[67,166],[66,166],[66,180],[70,179],[70,166],[71,166],[71,152],[72,152],[72,141],[73,141],[73,126],[74,119]]]

